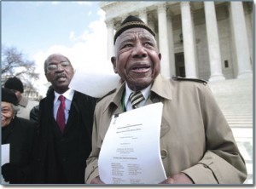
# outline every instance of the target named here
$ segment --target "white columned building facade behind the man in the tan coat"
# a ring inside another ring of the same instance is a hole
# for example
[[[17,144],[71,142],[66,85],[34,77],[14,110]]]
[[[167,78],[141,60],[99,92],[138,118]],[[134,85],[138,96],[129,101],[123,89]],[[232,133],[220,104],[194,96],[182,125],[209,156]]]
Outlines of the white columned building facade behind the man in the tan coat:
[[[156,33],[161,74],[207,81],[253,76],[253,2],[102,2],[113,36],[128,15]]]

